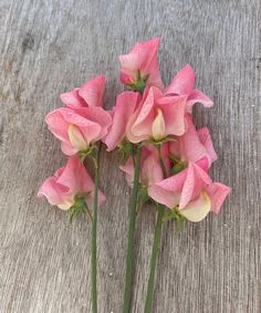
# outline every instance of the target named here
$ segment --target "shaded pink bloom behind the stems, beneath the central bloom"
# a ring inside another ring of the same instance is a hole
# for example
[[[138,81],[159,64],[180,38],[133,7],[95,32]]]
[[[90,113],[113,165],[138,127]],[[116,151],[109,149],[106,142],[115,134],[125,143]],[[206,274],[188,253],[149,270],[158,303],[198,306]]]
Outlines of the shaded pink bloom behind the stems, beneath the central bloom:
[[[169,173],[170,165],[168,160],[168,145],[161,145],[161,155],[166,170]],[[126,174],[126,180],[129,186],[133,185],[134,180],[134,163],[133,157],[128,157],[126,163],[119,168]],[[164,179],[164,173],[159,163],[158,150],[153,145],[142,147],[140,155],[140,171],[139,171],[139,184],[147,188],[154,182]]]

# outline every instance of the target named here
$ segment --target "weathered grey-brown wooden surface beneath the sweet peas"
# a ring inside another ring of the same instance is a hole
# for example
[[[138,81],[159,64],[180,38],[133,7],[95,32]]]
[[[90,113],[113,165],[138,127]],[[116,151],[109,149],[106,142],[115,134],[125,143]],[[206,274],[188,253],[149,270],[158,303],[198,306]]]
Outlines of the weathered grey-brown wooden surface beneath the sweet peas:
[[[211,174],[232,188],[219,216],[166,225],[154,313],[258,313],[261,43],[259,0],[0,0],[0,312],[91,312],[91,227],[35,198],[64,164],[45,114],[59,94],[105,73],[105,106],[122,90],[118,55],[161,36],[165,82],[189,62],[215,107],[197,106],[219,155]],[[98,305],[121,313],[129,190],[103,155],[108,196],[98,221]],[[143,312],[155,216],[138,217],[133,312]]]

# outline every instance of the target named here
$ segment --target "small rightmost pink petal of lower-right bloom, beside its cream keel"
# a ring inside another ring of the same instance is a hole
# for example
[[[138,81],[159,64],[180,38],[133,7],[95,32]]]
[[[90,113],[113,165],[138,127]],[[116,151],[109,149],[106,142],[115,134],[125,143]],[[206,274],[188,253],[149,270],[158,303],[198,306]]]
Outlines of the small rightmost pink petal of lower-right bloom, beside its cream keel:
[[[230,188],[220,182],[213,182],[206,188],[210,199],[211,199],[211,211],[218,213],[221,206],[230,194]]]

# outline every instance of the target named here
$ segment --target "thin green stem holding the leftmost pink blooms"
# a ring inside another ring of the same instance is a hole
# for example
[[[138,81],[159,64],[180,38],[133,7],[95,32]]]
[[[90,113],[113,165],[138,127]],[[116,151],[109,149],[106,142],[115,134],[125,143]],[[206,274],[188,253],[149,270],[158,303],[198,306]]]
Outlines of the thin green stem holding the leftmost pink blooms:
[[[100,154],[101,146],[94,156],[95,167],[95,188],[93,200],[93,227],[92,227],[92,310],[97,313],[97,205],[98,205],[98,187],[100,187]]]

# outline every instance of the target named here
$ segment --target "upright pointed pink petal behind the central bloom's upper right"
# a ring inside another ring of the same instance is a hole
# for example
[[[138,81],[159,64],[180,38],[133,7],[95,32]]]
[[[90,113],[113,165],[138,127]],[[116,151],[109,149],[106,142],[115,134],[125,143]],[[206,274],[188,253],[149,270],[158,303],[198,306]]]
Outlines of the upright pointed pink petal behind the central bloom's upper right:
[[[187,64],[173,79],[171,83],[165,91],[165,95],[189,95],[195,85],[195,72],[192,67]]]

